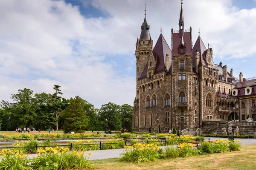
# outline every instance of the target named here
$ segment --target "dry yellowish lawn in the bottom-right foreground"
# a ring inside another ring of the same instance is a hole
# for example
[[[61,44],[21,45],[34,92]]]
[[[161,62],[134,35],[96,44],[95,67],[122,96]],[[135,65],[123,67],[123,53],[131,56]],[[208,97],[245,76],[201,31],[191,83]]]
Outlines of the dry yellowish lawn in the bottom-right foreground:
[[[242,150],[236,152],[166,159],[149,164],[121,162],[118,158],[91,162],[96,170],[255,170],[256,144],[243,145]]]

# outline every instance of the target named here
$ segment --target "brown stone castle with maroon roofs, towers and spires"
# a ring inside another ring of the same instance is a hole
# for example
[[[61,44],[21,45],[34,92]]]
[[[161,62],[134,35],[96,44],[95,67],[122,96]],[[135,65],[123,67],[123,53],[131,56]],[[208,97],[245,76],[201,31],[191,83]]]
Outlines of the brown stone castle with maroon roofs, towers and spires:
[[[242,73],[237,79],[232,68],[228,71],[227,65],[215,64],[209,44],[206,47],[199,34],[193,46],[192,28],[184,26],[181,3],[179,30],[172,29],[171,46],[162,31],[154,45],[145,14],[135,50],[137,84],[132,120],[135,131],[148,132],[150,128],[152,132],[166,132],[174,126],[182,131],[202,127],[204,121],[227,120],[229,116],[245,119],[249,114],[239,114],[239,106],[245,105],[239,103],[239,95],[246,95],[239,90],[244,88]],[[253,87],[247,89],[249,95],[254,94]]]

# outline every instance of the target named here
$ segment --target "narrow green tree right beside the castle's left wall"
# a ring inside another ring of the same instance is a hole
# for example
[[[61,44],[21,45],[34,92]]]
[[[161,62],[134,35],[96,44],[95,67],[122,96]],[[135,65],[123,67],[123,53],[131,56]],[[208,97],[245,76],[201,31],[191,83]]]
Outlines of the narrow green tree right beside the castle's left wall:
[[[120,107],[119,112],[122,117],[122,127],[124,129],[128,130],[131,127],[132,111],[133,111],[133,107],[128,104],[124,104]]]

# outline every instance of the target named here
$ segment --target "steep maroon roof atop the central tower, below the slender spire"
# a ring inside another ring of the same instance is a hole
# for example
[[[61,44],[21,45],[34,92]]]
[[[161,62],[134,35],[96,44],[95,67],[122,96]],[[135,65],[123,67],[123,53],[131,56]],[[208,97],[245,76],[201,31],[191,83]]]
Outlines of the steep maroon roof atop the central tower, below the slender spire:
[[[180,35],[179,33],[172,34],[172,45],[173,45],[173,56],[180,55],[178,54],[178,48],[180,46]],[[191,55],[191,40],[190,40],[190,32],[184,32],[183,42],[186,45],[186,55]]]

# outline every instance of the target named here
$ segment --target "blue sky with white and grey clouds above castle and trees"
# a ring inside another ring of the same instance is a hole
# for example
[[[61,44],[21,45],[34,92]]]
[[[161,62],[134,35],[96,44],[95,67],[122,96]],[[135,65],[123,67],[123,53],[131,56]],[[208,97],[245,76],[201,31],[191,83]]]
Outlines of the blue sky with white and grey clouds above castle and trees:
[[[9,0],[0,1],[0,99],[20,88],[66,98],[81,96],[97,108],[114,102],[133,105],[136,89],[135,43],[144,19],[152,39],[160,26],[171,45],[178,29],[180,0]],[[256,59],[255,0],[183,0],[185,28],[198,28],[238,77],[253,77]]]

